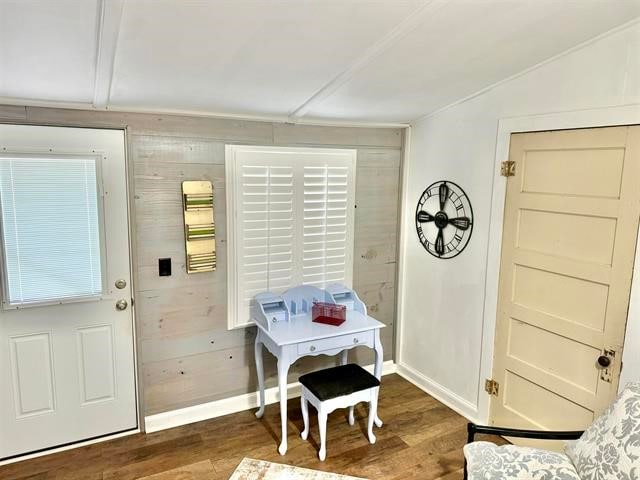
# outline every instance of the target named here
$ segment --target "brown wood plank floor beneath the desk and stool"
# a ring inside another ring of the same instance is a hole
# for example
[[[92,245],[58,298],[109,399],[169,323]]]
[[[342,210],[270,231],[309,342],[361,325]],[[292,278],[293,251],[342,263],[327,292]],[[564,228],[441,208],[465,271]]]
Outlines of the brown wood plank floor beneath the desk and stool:
[[[366,408],[356,425],[336,411],[327,426],[327,460],[317,457],[318,425],[311,408],[310,441],[300,438],[298,399],[289,402],[289,450],[277,452],[279,410],[267,406],[149,435],[137,434],[0,467],[2,480],[222,480],[243,457],[369,479],[461,479],[466,420],[398,375],[383,378],[379,413],[385,422],[367,441]]]

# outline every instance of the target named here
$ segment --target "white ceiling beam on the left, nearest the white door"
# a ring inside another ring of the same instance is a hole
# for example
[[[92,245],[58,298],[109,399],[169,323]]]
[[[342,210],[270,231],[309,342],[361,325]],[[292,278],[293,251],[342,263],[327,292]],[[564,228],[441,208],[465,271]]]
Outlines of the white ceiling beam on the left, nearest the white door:
[[[93,88],[94,108],[107,108],[109,105],[123,8],[124,0],[98,1],[96,76]]]

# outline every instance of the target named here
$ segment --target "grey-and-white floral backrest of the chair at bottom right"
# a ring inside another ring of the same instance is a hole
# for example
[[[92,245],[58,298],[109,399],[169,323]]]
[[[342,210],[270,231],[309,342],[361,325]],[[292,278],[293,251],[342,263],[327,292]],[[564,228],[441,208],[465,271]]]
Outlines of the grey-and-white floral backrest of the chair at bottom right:
[[[640,480],[640,383],[628,384],[565,452],[582,480]]]

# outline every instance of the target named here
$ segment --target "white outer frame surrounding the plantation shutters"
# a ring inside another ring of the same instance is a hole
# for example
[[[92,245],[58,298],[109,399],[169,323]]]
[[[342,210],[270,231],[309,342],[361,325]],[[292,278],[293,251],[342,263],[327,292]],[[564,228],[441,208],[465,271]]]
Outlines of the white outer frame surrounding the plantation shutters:
[[[255,322],[240,321],[238,315],[238,294],[240,292],[239,282],[242,280],[238,274],[237,255],[240,246],[237,245],[237,221],[238,221],[238,205],[237,205],[237,187],[240,180],[237,154],[239,153],[283,153],[290,155],[292,153],[302,154],[346,154],[350,160],[351,184],[347,189],[347,233],[345,241],[345,279],[343,283],[351,287],[353,283],[354,270],[354,251],[355,251],[355,196],[356,196],[356,167],[357,167],[357,150],[353,148],[322,148],[322,147],[277,147],[277,146],[257,146],[257,145],[225,145],[225,189],[226,189],[226,215],[227,215],[227,328],[234,330],[255,325]],[[301,163],[300,167],[304,169],[305,164]],[[295,182],[295,181],[294,181]],[[294,192],[295,190],[294,183]],[[302,203],[300,192],[294,194],[296,202]],[[303,210],[294,204],[294,218]],[[349,208],[351,205],[351,208]],[[296,242],[296,248],[302,249],[302,244]],[[302,267],[300,263],[299,268]]]

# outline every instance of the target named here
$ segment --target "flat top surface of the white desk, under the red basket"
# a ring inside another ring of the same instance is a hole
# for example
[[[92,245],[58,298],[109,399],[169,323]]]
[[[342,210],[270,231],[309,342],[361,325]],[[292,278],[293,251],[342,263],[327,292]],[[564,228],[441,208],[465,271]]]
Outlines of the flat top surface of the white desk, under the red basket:
[[[354,310],[347,310],[347,319],[342,325],[333,326],[311,321],[311,313],[295,315],[288,322],[278,322],[268,331],[258,323],[258,328],[270,337],[277,345],[291,345],[295,343],[337,337],[352,333],[364,332],[383,328],[386,325],[375,318],[363,315]]]

